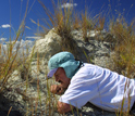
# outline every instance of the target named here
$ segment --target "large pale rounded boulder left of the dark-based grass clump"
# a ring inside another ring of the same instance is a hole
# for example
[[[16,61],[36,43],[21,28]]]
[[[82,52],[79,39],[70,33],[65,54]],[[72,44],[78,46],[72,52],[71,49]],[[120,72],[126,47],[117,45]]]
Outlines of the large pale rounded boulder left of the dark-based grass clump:
[[[45,38],[36,41],[33,47],[33,57],[37,59],[37,56],[39,56],[48,60],[51,55],[61,50],[60,40],[61,37],[54,33],[54,29],[51,29],[47,35],[45,35]]]

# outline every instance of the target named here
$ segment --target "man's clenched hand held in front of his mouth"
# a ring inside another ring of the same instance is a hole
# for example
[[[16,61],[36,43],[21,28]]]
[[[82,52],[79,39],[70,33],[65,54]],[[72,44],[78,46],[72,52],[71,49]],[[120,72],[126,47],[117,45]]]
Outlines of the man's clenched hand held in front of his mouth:
[[[60,85],[52,85],[50,87],[50,91],[54,94],[62,94],[64,92],[64,89]]]

